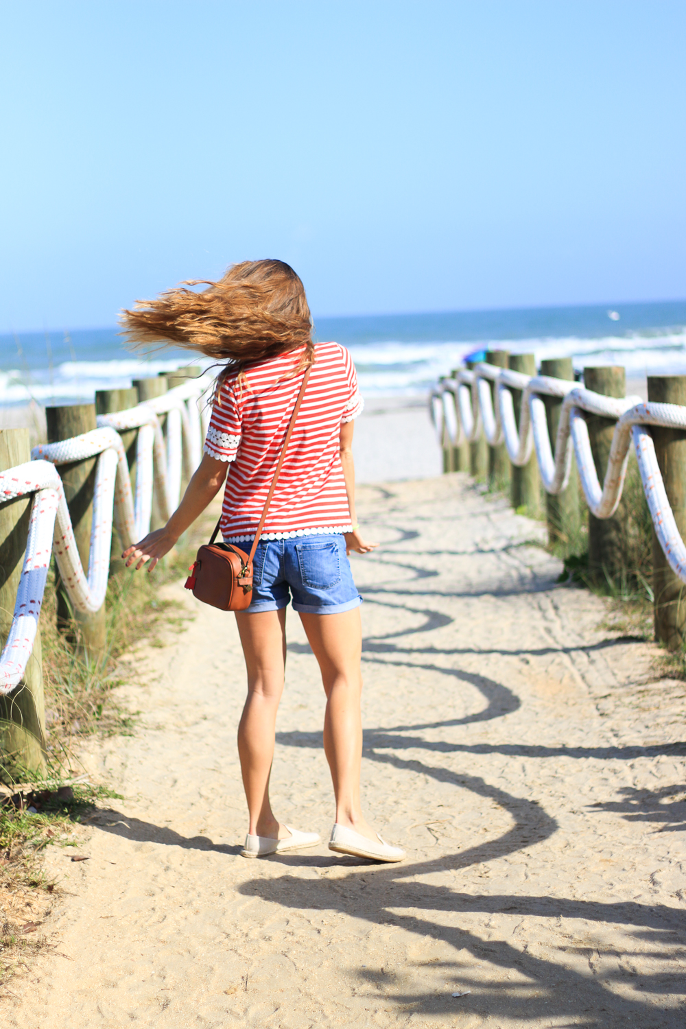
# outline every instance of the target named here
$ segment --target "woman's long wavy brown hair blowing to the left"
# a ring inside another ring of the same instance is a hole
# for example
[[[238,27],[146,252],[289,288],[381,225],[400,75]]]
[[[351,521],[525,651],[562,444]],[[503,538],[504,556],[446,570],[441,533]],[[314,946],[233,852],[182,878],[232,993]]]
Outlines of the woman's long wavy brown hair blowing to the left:
[[[188,286],[207,285],[200,292]],[[282,260],[244,260],[217,282],[188,280],[119,317],[134,347],[175,343],[225,363],[218,386],[246,365],[304,347],[294,370],[312,364],[312,317],[304,286]]]

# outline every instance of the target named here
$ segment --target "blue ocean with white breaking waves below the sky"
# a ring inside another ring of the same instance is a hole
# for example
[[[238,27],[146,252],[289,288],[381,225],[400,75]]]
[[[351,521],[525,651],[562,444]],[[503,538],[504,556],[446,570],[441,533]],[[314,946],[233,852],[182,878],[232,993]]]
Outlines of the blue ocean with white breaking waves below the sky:
[[[316,339],[350,349],[370,397],[419,397],[486,349],[533,352],[537,360],[571,356],[578,371],[622,364],[630,379],[686,375],[686,300],[319,318]],[[183,350],[132,354],[116,328],[0,335],[0,406],[88,401],[97,389],[180,364],[211,362]]]

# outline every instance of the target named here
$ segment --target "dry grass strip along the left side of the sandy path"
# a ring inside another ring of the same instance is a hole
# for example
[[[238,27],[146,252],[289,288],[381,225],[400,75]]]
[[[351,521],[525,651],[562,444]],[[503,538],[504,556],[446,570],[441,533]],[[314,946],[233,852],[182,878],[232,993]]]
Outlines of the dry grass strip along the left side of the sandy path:
[[[180,578],[200,542],[209,535],[214,517],[205,516],[175,553],[152,575],[125,569],[110,578],[107,598],[107,653],[89,662],[58,632],[55,576],[45,589],[41,612],[43,684],[45,689],[47,759],[45,778],[31,781],[14,769],[0,770],[0,987],[32,952],[46,945],[40,932],[49,913],[57,883],[46,881],[42,851],[48,844],[76,846],[79,822],[100,797],[118,794],[78,779],[78,743],[91,734],[131,734],[135,715],[117,703],[123,681],[121,655],[143,639],[163,645],[160,630],[181,624],[179,605],[159,597],[159,588]],[[81,777],[83,778],[83,777]],[[21,779],[21,781],[20,781]]]

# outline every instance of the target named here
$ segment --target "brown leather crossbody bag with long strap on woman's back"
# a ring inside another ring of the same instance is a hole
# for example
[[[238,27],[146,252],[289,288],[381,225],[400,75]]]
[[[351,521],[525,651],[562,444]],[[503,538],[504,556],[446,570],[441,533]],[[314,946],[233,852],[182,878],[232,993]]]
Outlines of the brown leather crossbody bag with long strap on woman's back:
[[[210,542],[206,546],[201,546],[197,552],[193,566],[190,569],[190,575],[186,579],[185,588],[186,590],[192,590],[193,597],[197,597],[204,604],[219,607],[222,611],[243,611],[250,605],[250,601],[252,600],[253,558],[255,557],[259,537],[262,534],[262,528],[264,527],[269,503],[272,502],[272,495],[276,489],[279,472],[286,457],[288,440],[295,426],[295,419],[302,403],[302,397],[304,396],[311,371],[312,366],[306,369],[302,379],[300,392],[295,401],[286,438],[281,448],[281,455],[279,456],[279,461],[274,472],[269,492],[264,501],[264,510],[255,531],[255,538],[253,539],[250,554],[248,555],[244,551],[241,551],[233,543],[215,543],[215,539],[219,533],[221,517],[210,537]]]

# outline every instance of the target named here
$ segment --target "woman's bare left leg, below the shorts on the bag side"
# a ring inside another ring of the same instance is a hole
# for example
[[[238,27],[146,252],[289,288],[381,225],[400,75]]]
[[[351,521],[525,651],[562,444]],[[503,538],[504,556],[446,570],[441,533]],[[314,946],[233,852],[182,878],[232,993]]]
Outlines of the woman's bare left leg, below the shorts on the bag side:
[[[250,812],[249,832],[284,839],[285,825],[274,817],[269,804],[269,773],[279,701],[286,666],[286,608],[248,614],[236,620],[248,672],[248,697],[239,724],[239,755]]]

